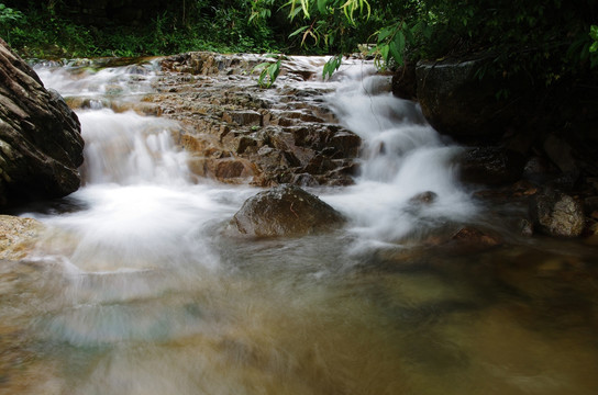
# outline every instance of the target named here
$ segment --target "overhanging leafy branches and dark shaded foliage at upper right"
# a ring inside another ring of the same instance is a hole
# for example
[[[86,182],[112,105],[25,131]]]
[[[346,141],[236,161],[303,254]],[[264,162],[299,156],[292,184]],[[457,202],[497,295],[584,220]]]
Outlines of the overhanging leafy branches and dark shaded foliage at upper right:
[[[346,54],[366,44],[381,68],[485,58],[480,78],[527,76],[550,84],[598,64],[595,0],[253,0],[254,19],[276,7],[302,47]]]

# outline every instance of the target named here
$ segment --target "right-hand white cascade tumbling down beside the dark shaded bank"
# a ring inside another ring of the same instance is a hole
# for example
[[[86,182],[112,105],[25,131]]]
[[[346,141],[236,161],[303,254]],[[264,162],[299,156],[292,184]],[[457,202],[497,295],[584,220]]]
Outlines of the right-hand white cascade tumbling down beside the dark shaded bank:
[[[425,122],[419,106],[392,95],[388,77],[353,66],[328,102],[340,122],[363,139],[362,171],[354,187],[328,198],[353,219],[368,242],[402,242],[447,222],[475,214],[456,179],[461,148]]]

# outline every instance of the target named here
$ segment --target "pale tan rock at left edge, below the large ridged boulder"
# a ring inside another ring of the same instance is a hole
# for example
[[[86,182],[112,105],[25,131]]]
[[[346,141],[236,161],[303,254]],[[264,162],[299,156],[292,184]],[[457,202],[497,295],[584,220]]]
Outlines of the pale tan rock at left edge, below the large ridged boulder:
[[[43,229],[44,225],[36,219],[0,215],[0,259],[25,258]]]

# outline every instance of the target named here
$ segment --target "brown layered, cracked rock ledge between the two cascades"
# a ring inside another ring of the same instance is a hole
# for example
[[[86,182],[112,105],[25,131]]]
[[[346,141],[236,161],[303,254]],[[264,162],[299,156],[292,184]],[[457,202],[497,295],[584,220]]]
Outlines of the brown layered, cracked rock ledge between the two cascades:
[[[294,59],[283,63],[272,89],[261,89],[252,69],[264,60],[210,53],[165,58],[157,93],[144,99],[154,110],[144,111],[182,124],[176,139],[198,176],[261,187],[352,184],[362,142],[328,109],[324,95],[334,88],[298,84],[315,80],[317,67]],[[235,171],[222,171],[231,162]]]

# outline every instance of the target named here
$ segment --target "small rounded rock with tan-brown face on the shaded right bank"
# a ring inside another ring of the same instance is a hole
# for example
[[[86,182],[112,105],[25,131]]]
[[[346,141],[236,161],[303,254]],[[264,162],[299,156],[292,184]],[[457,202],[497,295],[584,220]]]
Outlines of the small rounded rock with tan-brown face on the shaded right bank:
[[[543,190],[530,201],[534,227],[550,236],[578,237],[584,230],[584,207],[573,196],[555,190]]]

